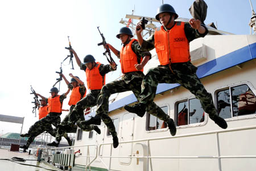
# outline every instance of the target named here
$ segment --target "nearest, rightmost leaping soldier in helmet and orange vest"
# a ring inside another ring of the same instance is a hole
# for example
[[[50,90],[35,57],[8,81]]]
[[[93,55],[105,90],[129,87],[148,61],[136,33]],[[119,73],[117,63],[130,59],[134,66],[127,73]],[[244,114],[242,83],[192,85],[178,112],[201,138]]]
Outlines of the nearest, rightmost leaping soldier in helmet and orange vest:
[[[155,98],[159,83],[179,83],[200,100],[204,111],[218,126],[226,129],[226,121],[217,115],[212,95],[207,92],[196,75],[197,67],[190,62],[189,42],[208,33],[200,20],[190,19],[189,23],[175,22],[178,17],[171,5],[158,8],[155,18],[162,24],[147,40],[143,40],[141,24],[137,24],[137,37],[141,50],[156,49],[160,66],[150,69],[143,78],[139,102],[134,106],[125,106],[132,113],[144,113]]]

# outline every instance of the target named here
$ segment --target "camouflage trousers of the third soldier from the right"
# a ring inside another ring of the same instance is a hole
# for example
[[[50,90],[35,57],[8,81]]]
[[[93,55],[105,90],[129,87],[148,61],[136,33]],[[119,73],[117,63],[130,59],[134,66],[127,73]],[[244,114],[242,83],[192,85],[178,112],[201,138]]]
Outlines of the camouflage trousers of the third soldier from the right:
[[[69,112],[68,126],[73,126],[76,123],[83,131],[92,131],[94,129],[94,125],[84,125],[81,122],[85,120],[84,109],[97,104],[97,97],[99,93],[100,89],[92,90],[88,95],[77,102],[72,112]]]

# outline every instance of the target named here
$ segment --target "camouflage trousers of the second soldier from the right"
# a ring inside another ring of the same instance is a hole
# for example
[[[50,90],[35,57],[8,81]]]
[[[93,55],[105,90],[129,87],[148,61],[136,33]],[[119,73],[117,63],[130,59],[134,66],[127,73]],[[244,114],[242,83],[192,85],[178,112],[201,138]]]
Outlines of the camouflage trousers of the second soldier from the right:
[[[102,121],[108,127],[112,136],[117,136],[117,132],[115,131],[115,127],[112,119],[108,116],[110,95],[114,93],[133,91],[135,97],[139,99],[139,95],[141,93],[141,84],[142,84],[142,78],[134,78],[129,83],[126,83],[125,80],[121,79],[121,80],[116,80],[114,82],[108,83],[102,87],[100,95],[98,96],[98,100],[97,100],[96,114],[101,115]],[[163,121],[167,121],[168,118],[170,118],[154,102],[151,102],[151,104],[148,105],[147,112],[158,117],[159,119],[162,119]]]

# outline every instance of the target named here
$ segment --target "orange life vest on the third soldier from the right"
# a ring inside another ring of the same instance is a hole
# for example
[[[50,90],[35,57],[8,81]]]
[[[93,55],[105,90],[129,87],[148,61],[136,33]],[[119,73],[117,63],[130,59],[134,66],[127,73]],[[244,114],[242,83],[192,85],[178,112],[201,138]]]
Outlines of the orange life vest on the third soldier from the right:
[[[96,66],[93,67],[92,70],[89,70],[86,68],[86,82],[87,82],[87,87],[91,90],[93,89],[101,89],[102,86],[105,85],[105,75],[102,76],[100,74],[100,67],[101,63],[97,62]]]

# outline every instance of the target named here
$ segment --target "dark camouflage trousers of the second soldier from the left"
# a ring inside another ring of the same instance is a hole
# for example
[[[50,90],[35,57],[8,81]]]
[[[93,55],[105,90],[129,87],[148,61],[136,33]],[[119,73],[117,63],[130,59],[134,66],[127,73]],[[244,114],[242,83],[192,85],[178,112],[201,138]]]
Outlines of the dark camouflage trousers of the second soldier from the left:
[[[60,114],[56,113],[49,113],[46,117],[36,121],[28,130],[29,138],[27,139],[26,146],[29,147],[36,136],[42,134],[44,131],[47,131],[52,136],[56,136],[56,129],[53,129],[52,125],[56,127],[59,123]],[[64,137],[67,139],[68,135],[65,134]]]

